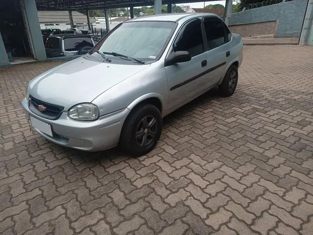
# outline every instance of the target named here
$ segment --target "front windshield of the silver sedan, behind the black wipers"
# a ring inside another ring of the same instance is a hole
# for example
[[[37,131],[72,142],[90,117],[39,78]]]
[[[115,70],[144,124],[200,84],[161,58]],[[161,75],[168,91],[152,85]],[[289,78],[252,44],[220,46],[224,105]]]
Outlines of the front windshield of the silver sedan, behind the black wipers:
[[[153,61],[162,52],[175,25],[175,22],[160,21],[127,22],[103,38],[94,49],[102,53],[114,52],[142,61]],[[89,55],[102,58],[94,50],[91,50]],[[106,56],[112,59],[112,55]],[[116,56],[114,59],[121,60]]]

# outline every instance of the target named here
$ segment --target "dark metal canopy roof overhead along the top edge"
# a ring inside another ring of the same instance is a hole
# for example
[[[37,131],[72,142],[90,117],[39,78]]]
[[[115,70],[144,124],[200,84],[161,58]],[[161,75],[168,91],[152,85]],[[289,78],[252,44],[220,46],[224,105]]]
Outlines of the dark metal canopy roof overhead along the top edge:
[[[162,0],[162,4],[177,4],[201,1],[203,0]],[[131,6],[152,6],[154,4],[154,0],[36,0],[37,10],[39,11],[108,9]]]

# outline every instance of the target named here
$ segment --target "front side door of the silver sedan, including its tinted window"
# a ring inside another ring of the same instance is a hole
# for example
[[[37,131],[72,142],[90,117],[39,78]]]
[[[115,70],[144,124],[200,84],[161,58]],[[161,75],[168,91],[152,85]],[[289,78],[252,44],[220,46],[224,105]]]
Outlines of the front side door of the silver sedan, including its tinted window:
[[[200,19],[187,22],[178,34],[173,45],[173,51],[188,51],[191,60],[166,66],[168,81],[168,107],[170,111],[210,86],[208,70],[208,56],[202,32],[204,31]]]

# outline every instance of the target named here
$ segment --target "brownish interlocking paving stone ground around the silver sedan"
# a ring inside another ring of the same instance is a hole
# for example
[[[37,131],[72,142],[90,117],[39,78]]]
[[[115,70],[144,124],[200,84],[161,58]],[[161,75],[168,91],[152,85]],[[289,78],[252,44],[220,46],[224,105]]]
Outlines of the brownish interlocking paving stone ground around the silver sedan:
[[[233,96],[165,118],[139,158],[29,130],[24,87],[61,62],[0,69],[0,234],[312,235],[313,47],[244,57]]]

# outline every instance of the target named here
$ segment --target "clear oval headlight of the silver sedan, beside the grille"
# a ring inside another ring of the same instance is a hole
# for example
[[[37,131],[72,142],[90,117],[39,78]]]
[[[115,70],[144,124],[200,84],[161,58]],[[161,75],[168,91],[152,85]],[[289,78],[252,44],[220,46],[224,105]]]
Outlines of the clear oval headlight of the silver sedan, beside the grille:
[[[96,120],[99,118],[99,109],[91,103],[77,104],[69,109],[68,117],[83,121]]]

